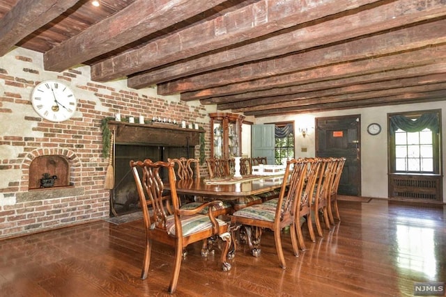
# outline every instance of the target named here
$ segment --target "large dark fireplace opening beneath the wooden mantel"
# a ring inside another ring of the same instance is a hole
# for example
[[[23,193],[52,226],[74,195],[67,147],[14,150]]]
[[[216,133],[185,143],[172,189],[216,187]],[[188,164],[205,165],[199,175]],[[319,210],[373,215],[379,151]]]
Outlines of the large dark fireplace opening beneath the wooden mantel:
[[[151,159],[153,161],[167,161],[167,158],[187,158],[194,156],[194,147],[170,147],[154,145],[118,144],[114,154],[114,189],[110,204],[110,216],[130,214],[140,211],[139,197],[134,178],[130,170],[130,161]],[[167,172],[162,172],[167,180]]]

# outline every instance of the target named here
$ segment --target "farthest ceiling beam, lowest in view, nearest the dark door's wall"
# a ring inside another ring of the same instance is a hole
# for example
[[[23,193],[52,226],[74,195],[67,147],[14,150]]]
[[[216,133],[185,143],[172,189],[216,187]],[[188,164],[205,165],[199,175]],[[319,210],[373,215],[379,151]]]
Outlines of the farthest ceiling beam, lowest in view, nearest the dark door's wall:
[[[406,93],[401,95],[393,95],[387,97],[379,97],[372,99],[362,99],[344,102],[331,102],[325,104],[313,104],[307,106],[291,106],[283,109],[268,109],[263,111],[251,111],[245,115],[253,115],[256,118],[284,115],[284,114],[298,114],[298,113],[316,113],[318,111],[334,111],[341,109],[361,109],[371,106],[387,106],[410,104],[417,102],[433,102],[444,101],[446,97],[446,90],[434,90],[422,93]]]

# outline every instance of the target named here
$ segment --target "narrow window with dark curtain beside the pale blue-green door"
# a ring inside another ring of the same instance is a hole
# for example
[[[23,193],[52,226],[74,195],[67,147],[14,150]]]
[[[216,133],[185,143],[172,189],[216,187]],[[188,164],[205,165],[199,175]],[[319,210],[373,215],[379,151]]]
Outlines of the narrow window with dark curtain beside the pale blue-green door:
[[[294,157],[294,124],[275,125],[275,163],[282,164],[282,158]]]

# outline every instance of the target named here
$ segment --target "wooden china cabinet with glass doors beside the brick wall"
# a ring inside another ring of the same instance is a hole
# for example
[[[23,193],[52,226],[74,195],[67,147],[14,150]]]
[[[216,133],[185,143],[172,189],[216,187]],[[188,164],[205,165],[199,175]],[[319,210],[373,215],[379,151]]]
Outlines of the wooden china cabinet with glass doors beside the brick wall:
[[[236,113],[210,113],[210,155],[229,159],[242,154],[243,115]]]

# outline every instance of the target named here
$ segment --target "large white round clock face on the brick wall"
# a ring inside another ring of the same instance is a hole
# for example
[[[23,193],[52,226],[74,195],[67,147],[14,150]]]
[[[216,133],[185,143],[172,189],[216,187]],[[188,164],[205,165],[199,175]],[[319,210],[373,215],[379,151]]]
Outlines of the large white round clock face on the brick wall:
[[[43,81],[31,94],[33,108],[52,122],[68,120],[76,111],[77,100],[70,88],[60,81]]]

